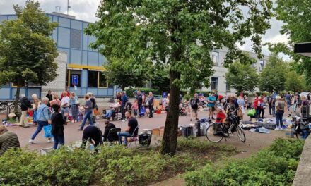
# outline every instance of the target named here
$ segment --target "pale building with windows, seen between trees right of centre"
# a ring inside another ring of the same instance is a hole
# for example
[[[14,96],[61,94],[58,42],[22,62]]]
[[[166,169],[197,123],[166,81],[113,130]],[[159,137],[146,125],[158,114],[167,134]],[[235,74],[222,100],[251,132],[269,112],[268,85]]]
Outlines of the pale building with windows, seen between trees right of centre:
[[[227,84],[225,81],[225,73],[228,72],[228,68],[223,67],[223,63],[225,61],[225,55],[227,54],[228,50],[226,49],[219,49],[216,51],[211,52],[211,58],[213,60],[214,66],[213,70],[215,73],[211,76],[211,86],[204,87],[202,90],[205,91],[213,91],[216,90],[219,94],[230,94],[235,93],[234,89],[230,88],[230,85]],[[250,57],[256,60],[256,63],[252,64],[252,68],[257,70],[257,73],[260,73],[264,66],[266,66],[266,61],[269,60],[269,56],[264,56],[263,58],[257,58],[257,55],[250,51],[245,51],[249,54]],[[255,89],[258,91],[258,89]]]

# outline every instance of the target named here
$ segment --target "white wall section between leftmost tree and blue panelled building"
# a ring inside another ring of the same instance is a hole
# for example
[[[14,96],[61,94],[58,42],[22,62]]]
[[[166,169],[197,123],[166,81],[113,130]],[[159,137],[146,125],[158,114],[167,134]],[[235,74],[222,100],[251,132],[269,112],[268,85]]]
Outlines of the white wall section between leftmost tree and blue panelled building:
[[[52,91],[52,93],[61,95],[61,92],[65,90],[65,84],[66,84],[66,63],[67,63],[67,54],[64,51],[57,51],[59,56],[55,58],[55,61],[57,62],[58,68],[57,68],[57,78],[49,82],[46,86],[42,86],[42,93],[41,97],[45,97],[47,95],[47,92],[49,90]]]

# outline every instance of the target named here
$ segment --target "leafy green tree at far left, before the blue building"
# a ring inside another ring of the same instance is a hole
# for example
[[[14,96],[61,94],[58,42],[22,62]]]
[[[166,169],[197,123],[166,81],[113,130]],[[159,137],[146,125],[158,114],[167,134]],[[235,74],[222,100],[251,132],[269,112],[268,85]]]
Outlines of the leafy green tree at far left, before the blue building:
[[[38,2],[13,8],[17,18],[0,25],[0,84],[17,85],[17,105],[20,87],[29,82],[46,85],[57,77],[57,48],[50,37],[57,23],[49,23]]]

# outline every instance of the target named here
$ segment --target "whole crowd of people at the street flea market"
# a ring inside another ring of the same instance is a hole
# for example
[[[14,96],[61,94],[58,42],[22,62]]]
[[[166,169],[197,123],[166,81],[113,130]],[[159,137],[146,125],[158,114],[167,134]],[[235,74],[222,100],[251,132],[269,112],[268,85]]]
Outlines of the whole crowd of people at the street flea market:
[[[115,104],[107,109],[104,118],[105,120],[105,131],[102,132],[95,119],[95,113],[98,111],[98,105],[96,99],[92,93],[87,93],[84,96],[84,104],[80,104],[78,97],[74,92],[69,92],[69,89],[61,93],[61,97],[57,94],[52,94],[49,91],[46,97],[42,100],[37,98],[36,94],[32,95],[32,102],[25,97],[25,94],[21,95],[21,116],[20,126],[24,128],[29,127],[27,116],[32,113],[33,125],[37,125],[37,129],[30,137],[29,144],[35,143],[35,137],[44,129],[46,126],[51,126],[51,135],[47,137],[48,142],[54,142],[54,149],[59,148],[65,143],[64,125],[71,120],[72,123],[81,122],[78,130],[83,131],[82,147],[85,147],[87,141],[94,146],[102,144],[105,140],[107,141],[119,141],[119,144],[124,142],[127,145],[128,137],[136,137],[138,133],[138,120],[143,116],[153,118],[155,98],[152,92],[145,94],[140,90],[135,91],[134,101],[131,103],[129,97],[125,92],[117,93],[115,97]],[[170,104],[170,94],[163,93],[163,99],[161,101],[163,110],[168,110]],[[264,118],[266,106],[269,106],[269,114],[276,118],[276,130],[282,130],[283,127],[283,113],[287,110],[295,112],[302,106],[310,105],[310,94],[303,95],[300,97],[299,94],[255,94],[254,97],[249,99],[246,95],[220,95],[217,92],[212,92],[207,97],[203,94],[195,93],[193,97],[187,92],[184,95],[184,101],[180,94],[180,104],[188,107],[190,114],[190,121],[199,120],[198,111],[206,107],[208,110],[207,117],[210,120],[216,122],[223,122],[228,114],[235,114],[240,119],[245,116],[248,109],[254,109],[255,113],[253,118],[259,120]],[[132,113],[133,112],[133,113]],[[128,127],[124,132],[115,132],[110,134],[110,130],[116,128],[116,126],[110,122],[111,118],[115,118],[114,115],[120,113],[123,122],[127,120]],[[146,114],[147,113],[147,114]],[[81,117],[82,116],[82,117]],[[88,126],[86,123],[88,122]],[[4,135],[6,133],[6,135]],[[109,134],[109,136],[108,136]],[[124,138],[124,140],[123,140]],[[13,144],[12,147],[19,147],[18,137],[13,132],[8,132],[5,127],[0,128],[0,142],[8,139]],[[8,146],[6,142],[1,142],[0,155],[4,153]]]

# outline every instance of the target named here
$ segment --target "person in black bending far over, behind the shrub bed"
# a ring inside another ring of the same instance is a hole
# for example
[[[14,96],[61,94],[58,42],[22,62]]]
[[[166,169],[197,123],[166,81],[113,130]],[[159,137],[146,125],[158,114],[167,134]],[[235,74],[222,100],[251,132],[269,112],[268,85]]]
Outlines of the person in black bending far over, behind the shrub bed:
[[[102,144],[102,130],[96,125],[88,125],[83,130],[82,136],[82,145],[81,148],[86,148],[86,142],[89,141],[94,147],[97,147],[99,144]]]

